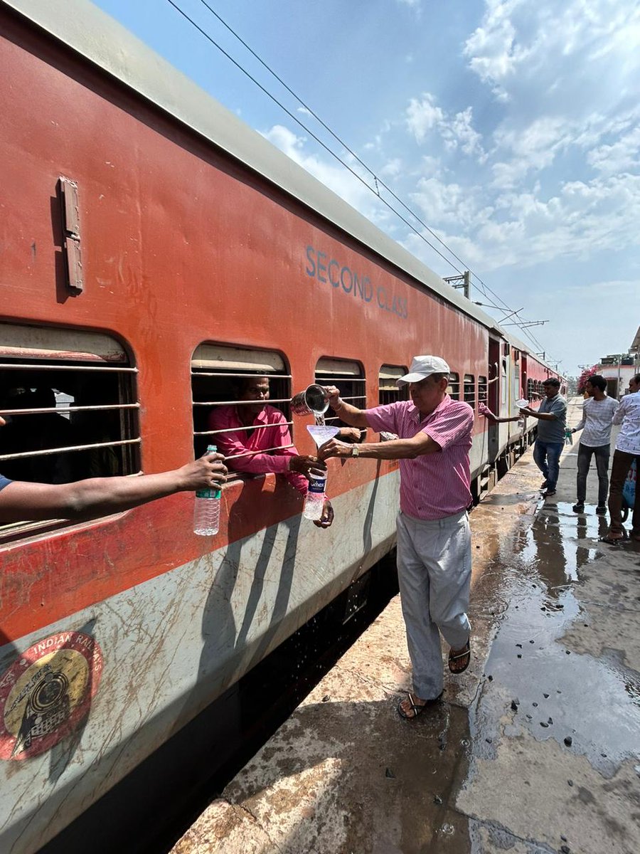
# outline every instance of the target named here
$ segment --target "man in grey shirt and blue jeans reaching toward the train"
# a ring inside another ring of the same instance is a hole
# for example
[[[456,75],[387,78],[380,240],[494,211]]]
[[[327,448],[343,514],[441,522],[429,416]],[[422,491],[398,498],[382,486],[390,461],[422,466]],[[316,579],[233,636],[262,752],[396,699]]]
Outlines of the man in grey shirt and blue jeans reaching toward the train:
[[[538,418],[538,436],[533,446],[533,460],[544,475],[544,497],[556,494],[560,474],[560,454],[567,429],[567,401],[560,395],[560,380],[549,377],[542,383],[544,400],[539,409],[525,407],[521,415]]]

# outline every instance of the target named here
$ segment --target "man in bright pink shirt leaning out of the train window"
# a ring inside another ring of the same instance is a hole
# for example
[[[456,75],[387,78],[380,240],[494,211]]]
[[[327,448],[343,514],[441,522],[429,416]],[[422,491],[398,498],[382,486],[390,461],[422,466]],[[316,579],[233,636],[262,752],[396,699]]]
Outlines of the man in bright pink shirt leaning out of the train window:
[[[318,468],[317,459],[298,453],[287,419],[279,409],[266,403],[269,377],[239,377],[236,398],[236,405],[213,409],[208,421],[209,430],[223,431],[212,436],[212,441],[218,451],[229,458],[230,470],[253,475],[270,471],[282,474],[304,496],[309,472]],[[314,524],[329,528],[333,519],[333,507],[327,499],[323,518]]]

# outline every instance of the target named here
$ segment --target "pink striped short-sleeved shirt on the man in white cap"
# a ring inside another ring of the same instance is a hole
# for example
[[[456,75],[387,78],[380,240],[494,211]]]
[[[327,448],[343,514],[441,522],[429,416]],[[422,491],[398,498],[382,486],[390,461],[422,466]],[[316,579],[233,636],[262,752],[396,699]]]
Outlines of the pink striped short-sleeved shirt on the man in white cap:
[[[474,411],[449,395],[426,418],[411,401],[366,409],[372,430],[388,430],[412,439],[419,430],[438,442],[439,453],[400,459],[400,510],[416,519],[442,519],[466,510],[471,503],[468,452]]]

